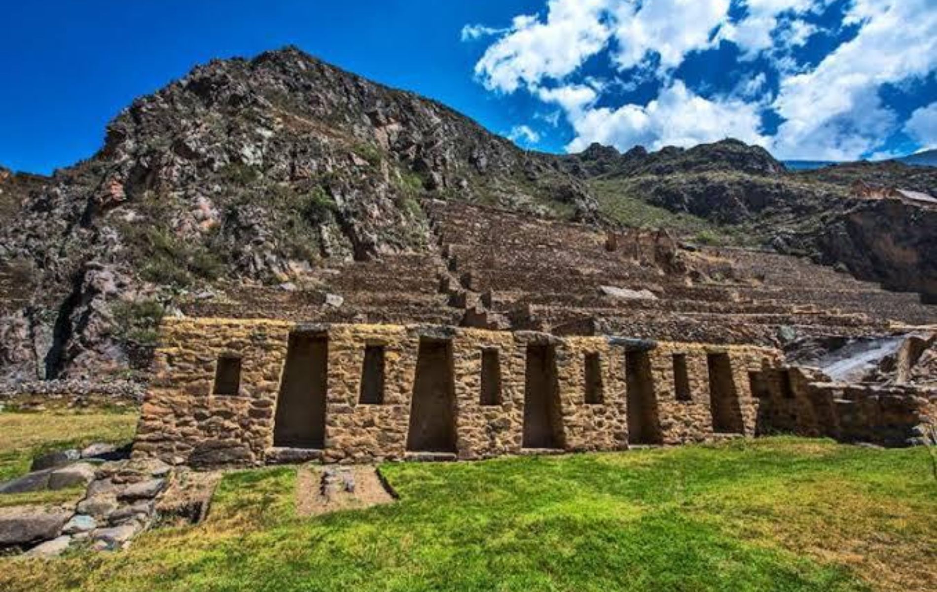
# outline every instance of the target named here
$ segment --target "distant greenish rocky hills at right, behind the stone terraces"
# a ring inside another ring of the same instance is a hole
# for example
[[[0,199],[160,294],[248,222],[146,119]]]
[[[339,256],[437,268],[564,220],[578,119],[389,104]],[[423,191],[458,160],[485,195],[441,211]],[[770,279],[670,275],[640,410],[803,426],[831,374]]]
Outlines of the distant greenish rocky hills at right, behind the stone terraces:
[[[632,200],[693,215],[715,223],[725,244],[809,256],[937,302],[937,202],[896,191],[937,195],[937,168],[889,161],[789,171],[732,140],[652,154],[593,145],[562,159],[603,206]]]

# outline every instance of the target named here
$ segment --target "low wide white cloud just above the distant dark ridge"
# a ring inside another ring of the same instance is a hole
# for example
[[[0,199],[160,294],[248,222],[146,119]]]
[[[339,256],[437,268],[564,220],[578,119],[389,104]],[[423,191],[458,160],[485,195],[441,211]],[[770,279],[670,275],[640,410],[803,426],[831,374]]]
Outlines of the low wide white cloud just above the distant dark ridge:
[[[556,93],[575,96],[576,91]],[[657,150],[667,145],[689,147],[698,143],[736,138],[766,144],[759,133],[758,109],[731,98],[706,99],[682,81],[674,81],[647,105],[618,109],[581,107],[567,110],[576,138],[566,148],[579,152],[593,141],[627,150],[636,144]]]

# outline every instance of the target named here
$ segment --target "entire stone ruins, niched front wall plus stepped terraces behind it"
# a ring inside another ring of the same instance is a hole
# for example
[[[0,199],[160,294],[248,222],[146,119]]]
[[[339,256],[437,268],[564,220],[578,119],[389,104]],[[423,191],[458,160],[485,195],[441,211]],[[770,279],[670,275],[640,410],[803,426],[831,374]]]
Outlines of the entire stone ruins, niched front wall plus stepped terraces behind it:
[[[662,233],[424,207],[427,252],[231,287],[165,319],[134,453],[357,463],[774,432],[906,445],[935,417],[937,385],[905,380],[907,360],[870,384],[781,351],[937,326],[914,295]],[[921,343],[915,363],[937,360]]]

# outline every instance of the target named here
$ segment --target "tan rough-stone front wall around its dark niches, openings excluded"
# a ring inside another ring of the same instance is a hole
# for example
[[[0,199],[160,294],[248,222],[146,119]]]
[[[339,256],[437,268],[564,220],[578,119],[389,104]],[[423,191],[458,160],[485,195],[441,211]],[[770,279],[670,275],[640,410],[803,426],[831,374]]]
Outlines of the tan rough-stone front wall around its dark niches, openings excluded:
[[[559,338],[454,327],[170,318],[161,329],[156,376],[141,409],[134,454],[193,466],[247,466],[284,458],[284,451],[274,448],[274,434],[290,333],[328,339],[325,442],[321,451],[305,456],[325,462],[395,460],[415,454],[407,450],[407,444],[421,340],[451,344],[456,435],[451,455],[459,459],[525,451],[528,346],[554,352],[561,432],[554,448],[563,451],[628,448],[626,356],[635,351],[647,350],[662,444],[716,436],[708,354],[724,353],[730,360],[741,422],[737,432],[745,436],[755,434],[758,417],[749,373],[776,367],[781,361],[777,350],[743,346],[654,344],[600,336]],[[359,402],[368,346],[384,352],[384,394],[379,405]],[[498,351],[500,400],[494,405],[483,405],[480,396],[485,349]],[[677,400],[675,353],[685,356],[689,400]],[[585,401],[586,354],[599,355],[599,404]],[[236,394],[213,394],[216,364],[224,357],[241,360]]]

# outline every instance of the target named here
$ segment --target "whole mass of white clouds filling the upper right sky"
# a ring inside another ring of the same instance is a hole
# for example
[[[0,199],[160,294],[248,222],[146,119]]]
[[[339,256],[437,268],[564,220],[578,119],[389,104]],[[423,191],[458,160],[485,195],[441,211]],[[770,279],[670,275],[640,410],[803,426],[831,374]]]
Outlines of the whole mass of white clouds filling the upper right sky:
[[[545,14],[517,16],[505,30],[470,25],[463,38],[497,37],[475,66],[478,80],[489,90],[523,89],[557,105],[576,134],[569,150],[591,141],[624,150],[637,143],[687,146],[731,136],[785,158],[879,154],[901,127],[880,91],[884,84],[913,86],[937,69],[937,9],[934,0],[850,0],[840,24],[855,25],[855,37],[815,66],[798,64],[793,50],[824,32],[813,17],[832,2],[547,0]],[[737,22],[729,17],[730,5],[743,9]],[[735,88],[710,96],[702,90],[706,82],[690,89],[673,80],[688,55],[722,41],[735,43],[742,54],[736,67],[743,76]],[[599,54],[612,67],[611,76],[586,76],[580,69]],[[752,67],[759,56],[772,71]],[[647,82],[660,86],[653,100],[609,105]],[[782,122],[771,138],[761,128],[768,110]],[[905,131],[933,144],[932,111],[919,111]]]

